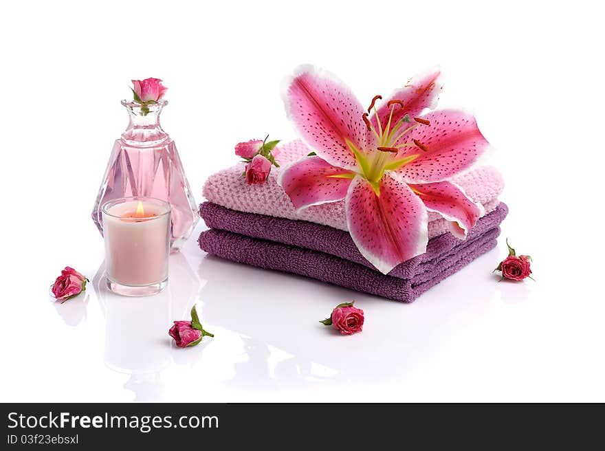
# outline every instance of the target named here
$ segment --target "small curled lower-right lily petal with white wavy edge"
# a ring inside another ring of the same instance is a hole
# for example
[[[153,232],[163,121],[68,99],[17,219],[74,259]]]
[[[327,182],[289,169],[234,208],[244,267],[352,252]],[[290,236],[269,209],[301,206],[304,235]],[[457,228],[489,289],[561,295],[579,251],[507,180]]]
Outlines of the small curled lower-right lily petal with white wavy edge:
[[[410,188],[429,211],[437,212],[450,221],[450,232],[459,239],[465,239],[477,219],[485,214],[481,203],[472,201],[459,185],[451,181],[410,185]]]

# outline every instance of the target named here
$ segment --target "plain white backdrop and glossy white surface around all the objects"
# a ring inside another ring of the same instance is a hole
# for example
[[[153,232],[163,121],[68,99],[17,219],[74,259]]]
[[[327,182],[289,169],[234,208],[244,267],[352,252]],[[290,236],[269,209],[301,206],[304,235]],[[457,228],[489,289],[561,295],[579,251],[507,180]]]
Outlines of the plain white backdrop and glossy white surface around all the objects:
[[[1,401],[605,401],[603,17],[594,1],[20,1],[0,14]],[[289,140],[280,83],[330,69],[366,103],[427,67],[495,148],[510,208],[497,250],[412,305],[206,259],[200,224],[154,298],[107,294],[91,208],[132,78],[197,201],[236,142]],[[503,238],[536,282],[498,283]],[[51,302],[65,266],[93,283]],[[362,333],[317,321],[354,298]],[[198,303],[216,334],[177,349]]]

